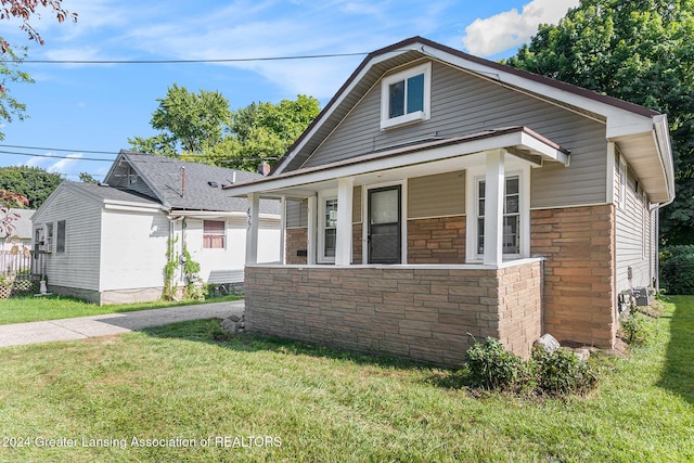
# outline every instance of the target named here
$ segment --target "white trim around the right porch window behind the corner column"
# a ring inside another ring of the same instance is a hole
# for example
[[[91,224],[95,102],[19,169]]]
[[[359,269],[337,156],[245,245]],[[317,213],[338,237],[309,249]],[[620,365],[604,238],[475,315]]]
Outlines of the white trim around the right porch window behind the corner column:
[[[520,193],[518,204],[520,213],[520,254],[504,254],[503,258],[509,260],[530,257],[530,166],[509,170],[504,173],[504,179],[514,176],[518,177],[518,192]],[[465,261],[467,263],[479,263],[485,258],[484,254],[477,253],[477,204],[479,200],[477,182],[484,179],[484,167],[467,169],[465,178]]]

